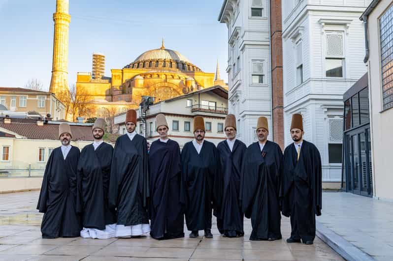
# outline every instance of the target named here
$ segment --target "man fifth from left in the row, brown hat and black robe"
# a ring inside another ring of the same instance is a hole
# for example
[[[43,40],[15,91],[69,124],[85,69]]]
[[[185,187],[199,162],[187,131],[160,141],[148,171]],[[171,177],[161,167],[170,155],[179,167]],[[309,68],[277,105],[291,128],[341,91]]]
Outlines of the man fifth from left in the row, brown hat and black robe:
[[[206,238],[212,238],[211,221],[213,209],[213,182],[218,171],[216,146],[204,140],[203,117],[194,117],[195,140],[184,145],[181,153],[182,188],[180,202],[186,207],[186,224],[191,238],[205,231]]]

